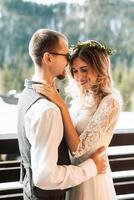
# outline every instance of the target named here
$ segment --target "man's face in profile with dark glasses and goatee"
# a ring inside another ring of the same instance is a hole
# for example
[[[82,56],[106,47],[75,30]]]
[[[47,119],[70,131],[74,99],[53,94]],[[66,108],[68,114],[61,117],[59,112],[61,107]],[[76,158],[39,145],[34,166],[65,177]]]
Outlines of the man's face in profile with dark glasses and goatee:
[[[60,38],[57,50],[51,54],[53,56],[53,66],[51,67],[51,71],[54,77],[57,77],[58,79],[65,78],[65,68],[68,65],[68,51],[68,42],[63,38]]]

